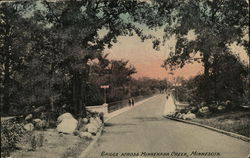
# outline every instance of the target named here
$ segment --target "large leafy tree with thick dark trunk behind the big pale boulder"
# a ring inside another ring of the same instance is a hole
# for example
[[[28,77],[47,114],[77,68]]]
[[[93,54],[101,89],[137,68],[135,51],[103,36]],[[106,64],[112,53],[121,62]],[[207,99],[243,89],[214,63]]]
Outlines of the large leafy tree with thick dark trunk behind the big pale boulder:
[[[112,47],[120,35],[136,33],[141,38],[146,38],[135,24],[127,21],[131,16],[130,13],[141,11],[140,6],[145,2],[71,0],[53,3],[36,0],[13,2],[10,5],[16,4],[20,4],[22,18],[28,22],[28,26],[31,23],[39,26],[26,30],[34,35],[28,43],[31,44],[33,56],[36,56],[34,58],[41,65],[48,66],[44,80],[48,80],[51,96],[55,85],[53,80],[59,71],[64,77],[69,78],[71,83],[71,104],[74,106],[75,114],[79,114],[80,111],[85,115],[86,83],[89,78],[87,62],[97,58],[106,46]],[[10,15],[17,18],[15,14]],[[19,23],[12,24],[19,25]],[[103,30],[104,33],[100,33]],[[7,46],[4,51],[8,51]],[[30,72],[32,69],[30,67]],[[6,85],[4,88],[7,88]],[[53,105],[53,101],[51,104]]]

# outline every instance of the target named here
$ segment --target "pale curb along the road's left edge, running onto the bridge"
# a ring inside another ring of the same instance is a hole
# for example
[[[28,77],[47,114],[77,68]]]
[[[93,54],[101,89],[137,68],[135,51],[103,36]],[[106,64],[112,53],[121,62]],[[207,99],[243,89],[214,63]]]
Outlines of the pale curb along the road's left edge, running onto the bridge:
[[[158,96],[158,95],[154,95],[154,96],[151,96],[151,97],[149,97],[149,98],[147,98],[147,99],[144,99],[144,100],[139,101],[138,103],[135,104],[135,107],[138,106],[138,105],[143,104],[144,102],[146,102],[146,101],[148,101],[149,99],[152,99],[152,98],[154,98],[154,97],[156,97],[156,96]],[[90,150],[94,147],[95,143],[97,142],[97,140],[100,138],[100,136],[101,136],[101,134],[102,134],[102,131],[103,131],[104,126],[105,126],[105,122],[109,121],[110,119],[112,119],[112,118],[114,118],[114,117],[116,117],[116,116],[118,116],[118,115],[120,115],[120,114],[122,114],[122,113],[124,113],[124,112],[129,111],[130,109],[132,109],[132,108],[127,108],[127,107],[125,107],[125,108],[122,108],[122,109],[120,109],[120,110],[117,110],[118,112],[114,112],[114,113],[115,113],[114,115],[108,116],[108,118],[106,118],[106,119],[104,120],[103,125],[101,126],[101,128],[100,128],[99,131],[97,132],[97,134],[96,134],[96,136],[94,137],[93,141],[88,145],[88,147],[87,147],[84,151],[81,152],[81,154],[78,156],[78,158],[85,158],[85,157],[87,156],[87,154],[90,152]]]

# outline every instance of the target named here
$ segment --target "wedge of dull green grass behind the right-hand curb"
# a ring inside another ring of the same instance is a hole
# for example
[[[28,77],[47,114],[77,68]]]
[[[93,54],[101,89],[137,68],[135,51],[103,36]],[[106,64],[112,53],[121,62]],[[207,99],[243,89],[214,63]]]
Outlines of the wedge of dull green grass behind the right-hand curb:
[[[250,137],[250,111],[234,111],[192,121]]]

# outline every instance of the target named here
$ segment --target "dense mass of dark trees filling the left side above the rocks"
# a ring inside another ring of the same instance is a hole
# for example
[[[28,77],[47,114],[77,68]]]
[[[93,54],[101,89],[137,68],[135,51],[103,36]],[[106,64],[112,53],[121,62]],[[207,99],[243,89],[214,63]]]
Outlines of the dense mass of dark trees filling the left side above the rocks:
[[[22,1],[0,4],[1,112],[25,112],[44,105],[70,107],[86,115],[86,105],[147,95],[162,88],[152,79],[132,79],[128,61],[103,54],[120,35],[140,29],[122,14],[140,11],[135,1]],[[105,33],[100,33],[104,30]],[[142,86],[144,84],[144,87]],[[146,87],[146,86],[150,86]]]

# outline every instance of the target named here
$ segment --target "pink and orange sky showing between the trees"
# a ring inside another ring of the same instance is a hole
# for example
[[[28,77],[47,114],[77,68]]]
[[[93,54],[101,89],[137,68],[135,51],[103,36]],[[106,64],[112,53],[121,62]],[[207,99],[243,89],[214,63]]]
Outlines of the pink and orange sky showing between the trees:
[[[154,34],[157,37],[162,37],[163,30],[156,32],[147,30],[148,33]],[[190,31],[187,35],[189,40],[195,40],[195,34]],[[129,63],[135,66],[137,73],[133,75],[135,78],[150,77],[155,79],[173,80],[174,77],[181,76],[185,79],[203,73],[202,63],[193,63],[184,66],[182,69],[173,71],[173,75],[169,74],[161,65],[163,61],[169,57],[170,50],[174,49],[176,40],[170,38],[164,46],[161,46],[159,51],[152,47],[152,41],[146,40],[141,42],[137,36],[121,36],[118,37],[118,43],[114,44],[111,49],[105,49],[104,53],[108,53],[109,59],[129,60]],[[242,47],[233,44],[230,46],[235,54],[240,56],[244,62],[248,62],[248,56]]]

